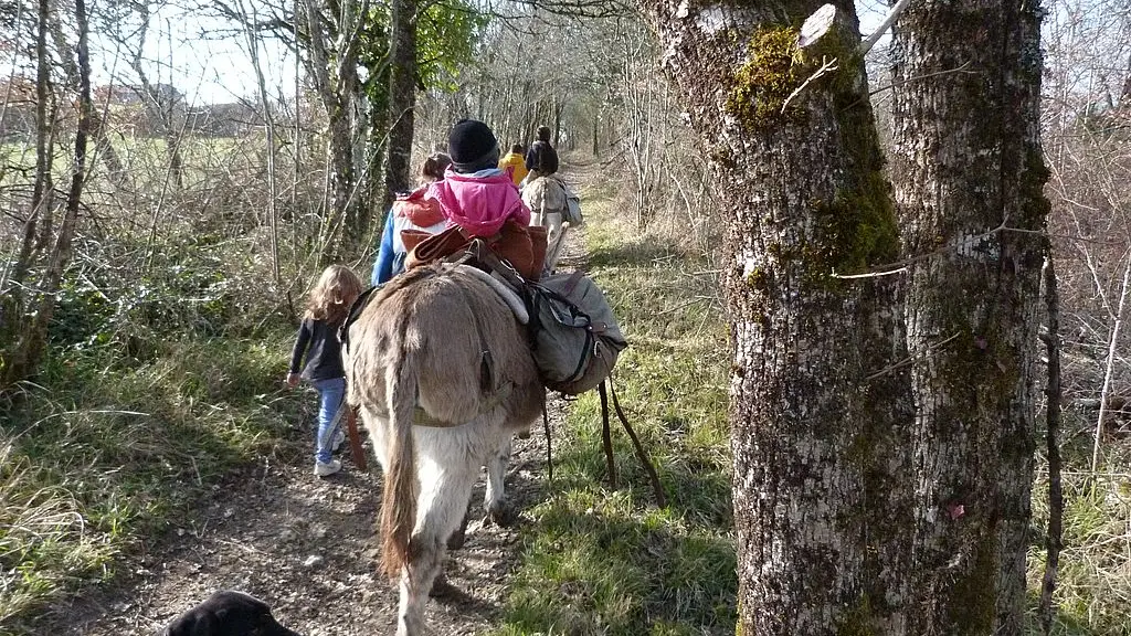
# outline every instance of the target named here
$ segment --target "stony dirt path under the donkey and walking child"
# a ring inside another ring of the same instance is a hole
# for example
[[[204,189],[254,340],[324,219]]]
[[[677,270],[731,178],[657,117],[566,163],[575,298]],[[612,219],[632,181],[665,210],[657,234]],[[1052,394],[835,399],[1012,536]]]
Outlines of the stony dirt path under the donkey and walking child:
[[[584,266],[584,244],[581,233],[572,232],[560,267]],[[563,402],[550,403],[552,427],[563,407]],[[282,624],[308,636],[391,634],[397,591],[375,565],[380,470],[372,450],[366,441],[370,473],[362,473],[344,445],[345,470],[320,480],[311,473],[305,429],[296,428],[275,457],[232,475],[183,523],[147,541],[143,555],[119,565],[126,575],[114,585],[52,608],[41,633],[148,636],[213,592],[234,588],[262,599]],[[530,439],[516,441],[507,473],[508,499],[520,513],[543,498],[546,442],[541,429],[535,426]],[[428,607],[429,626],[437,634],[472,634],[497,625],[509,574],[518,565],[519,531],[530,518],[523,513],[512,527],[484,525],[478,521],[483,489],[481,478],[466,543],[449,553],[446,566],[459,595]]]

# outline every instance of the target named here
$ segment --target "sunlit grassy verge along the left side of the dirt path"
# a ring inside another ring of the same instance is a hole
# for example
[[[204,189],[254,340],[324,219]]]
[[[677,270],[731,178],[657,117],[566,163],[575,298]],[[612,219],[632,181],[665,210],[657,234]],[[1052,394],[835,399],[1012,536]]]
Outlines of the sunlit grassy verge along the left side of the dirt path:
[[[0,428],[0,634],[34,633],[37,610],[113,577],[224,475],[291,452],[291,337],[173,342],[136,366],[52,352]]]

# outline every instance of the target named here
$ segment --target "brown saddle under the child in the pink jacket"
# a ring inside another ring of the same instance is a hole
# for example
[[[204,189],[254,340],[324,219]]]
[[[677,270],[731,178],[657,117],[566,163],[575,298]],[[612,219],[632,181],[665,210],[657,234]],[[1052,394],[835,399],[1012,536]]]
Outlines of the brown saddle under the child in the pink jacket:
[[[408,257],[405,269],[428,265],[449,257],[460,257],[474,240],[482,240],[487,249],[501,260],[509,263],[527,281],[537,281],[546,259],[546,229],[527,226],[507,221],[492,237],[474,237],[458,225],[452,225],[439,234],[420,230],[402,230]]]

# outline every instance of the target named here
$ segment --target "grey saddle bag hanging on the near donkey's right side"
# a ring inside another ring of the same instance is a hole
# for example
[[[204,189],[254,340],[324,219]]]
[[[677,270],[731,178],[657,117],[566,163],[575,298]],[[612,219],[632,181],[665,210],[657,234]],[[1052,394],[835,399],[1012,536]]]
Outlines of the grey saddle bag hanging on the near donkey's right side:
[[[597,388],[628,346],[605,294],[580,272],[527,283],[523,293],[543,384],[566,395]]]

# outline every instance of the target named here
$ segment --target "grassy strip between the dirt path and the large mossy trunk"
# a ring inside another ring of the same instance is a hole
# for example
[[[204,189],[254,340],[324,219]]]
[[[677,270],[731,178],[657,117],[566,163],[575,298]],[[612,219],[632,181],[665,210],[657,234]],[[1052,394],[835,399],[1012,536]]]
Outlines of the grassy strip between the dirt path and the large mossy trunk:
[[[735,548],[726,422],[726,334],[692,259],[637,237],[588,192],[590,273],[630,346],[616,368],[622,404],[656,462],[668,508],[655,508],[627,436],[614,429],[620,488],[607,488],[599,401],[590,393],[556,431],[549,497],[530,514],[500,635],[733,634]],[[615,420],[614,420],[615,426]]]

